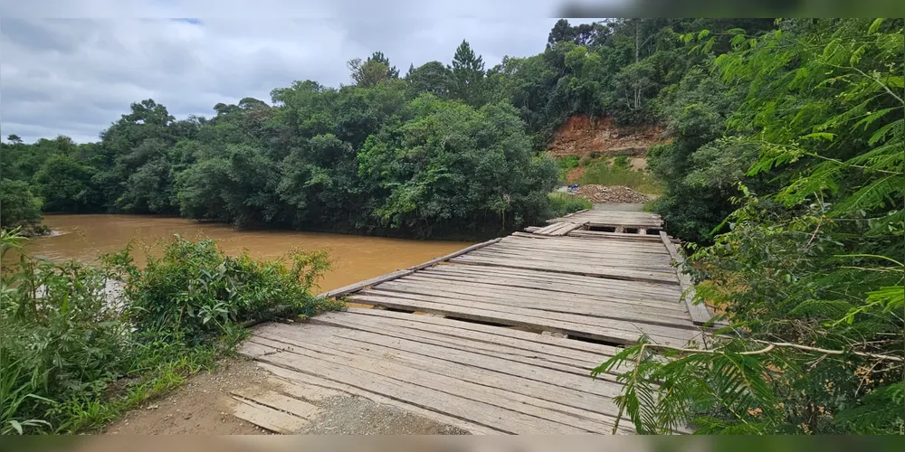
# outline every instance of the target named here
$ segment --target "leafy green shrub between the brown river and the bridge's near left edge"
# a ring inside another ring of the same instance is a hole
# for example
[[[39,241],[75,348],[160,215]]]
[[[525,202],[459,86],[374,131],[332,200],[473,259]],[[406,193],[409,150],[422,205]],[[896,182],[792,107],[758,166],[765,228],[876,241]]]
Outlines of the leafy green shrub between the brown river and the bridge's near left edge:
[[[138,333],[173,334],[191,342],[226,333],[226,325],[262,320],[288,311],[313,315],[309,290],[329,268],[324,251],[291,250],[285,260],[258,262],[247,253],[227,256],[214,240],[176,236],[159,259],[135,267],[129,250],[106,258],[117,268]]]

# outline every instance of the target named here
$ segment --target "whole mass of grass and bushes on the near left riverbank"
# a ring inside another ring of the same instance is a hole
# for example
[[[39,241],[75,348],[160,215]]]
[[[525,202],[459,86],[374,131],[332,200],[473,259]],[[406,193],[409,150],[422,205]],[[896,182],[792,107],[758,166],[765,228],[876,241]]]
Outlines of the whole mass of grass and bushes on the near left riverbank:
[[[0,252],[23,240],[3,232]],[[129,249],[100,267],[22,254],[0,279],[0,433],[100,428],[232,353],[244,321],[336,307],[310,294],[327,267],[322,252],[257,262],[178,237],[144,269]]]

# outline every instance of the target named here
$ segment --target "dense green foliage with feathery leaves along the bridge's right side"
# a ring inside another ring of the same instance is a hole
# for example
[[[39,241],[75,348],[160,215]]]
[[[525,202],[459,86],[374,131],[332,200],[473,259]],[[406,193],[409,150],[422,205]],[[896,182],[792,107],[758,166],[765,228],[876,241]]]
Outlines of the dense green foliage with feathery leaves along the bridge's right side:
[[[618,402],[638,431],[905,428],[903,25],[734,31],[731,52],[669,93],[676,139],[652,159],[660,208],[715,241],[691,247],[686,270],[728,326],[708,350],[644,343],[595,370],[629,365]]]

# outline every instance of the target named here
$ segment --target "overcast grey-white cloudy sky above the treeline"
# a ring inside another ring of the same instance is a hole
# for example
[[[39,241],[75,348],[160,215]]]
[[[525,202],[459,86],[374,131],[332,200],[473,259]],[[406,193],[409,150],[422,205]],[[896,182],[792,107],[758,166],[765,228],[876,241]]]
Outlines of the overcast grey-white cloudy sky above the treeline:
[[[542,52],[557,20],[547,2],[517,3],[4,2],[0,135],[94,141],[129,103],[148,98],[176,118],[211,116],[218,102],[269,101],[293,80],[350,83],[346,61],[374,51],[405,74],[410,63],[448,63],[466,39],[491,67],[504,55]]]

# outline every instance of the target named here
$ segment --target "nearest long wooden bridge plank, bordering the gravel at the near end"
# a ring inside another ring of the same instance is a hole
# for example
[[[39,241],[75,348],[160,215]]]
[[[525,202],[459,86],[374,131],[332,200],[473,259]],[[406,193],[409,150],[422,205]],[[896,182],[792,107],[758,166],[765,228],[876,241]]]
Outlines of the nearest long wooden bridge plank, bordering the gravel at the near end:
[[[375,403],[380,403],[383,405],[390,405],[398,408],[400,410],[410,411],[418,416],[423,416],[424,418],[434,419],[444,424],[449,424],[454,427],[462,428],[463,430],[471,433],[472,435],[499,435],[503,433],[500,430],[496,430],[493,428],[488,428],[485,426],[481,426],[474,422],[470,422],[466,419],[455,418],[452,416],[444,415],[443,413],[439,413],[432,410],[424,410],[421,407],[417,407],[413,404],[406,403],[404,400],[396,400],[391,399],[389,397],[382,396],[380,394],[376,394],[371,391],[363,391],[354,386],[341,383],[339,381],[332,381],[325,378],[320,378],[315,375],[311,375],[310,373],[301,373],[297,371],[293,371],[291,369],[287,369],[285,367],[281,367],[271,363],[257,363],[258,367],[261,367],[263,370],[267,372],[271,372],[282,380],[289,381],[290,384],[298,384],[305,383],[316,385],[320,388],[325,388],[328,391],[342,391],[347,394],[356,395],[358,397],[371,400]]]

